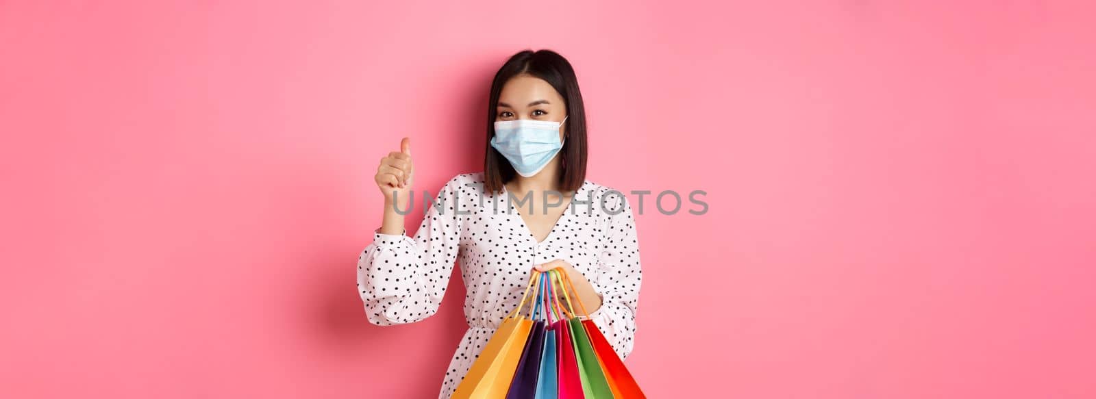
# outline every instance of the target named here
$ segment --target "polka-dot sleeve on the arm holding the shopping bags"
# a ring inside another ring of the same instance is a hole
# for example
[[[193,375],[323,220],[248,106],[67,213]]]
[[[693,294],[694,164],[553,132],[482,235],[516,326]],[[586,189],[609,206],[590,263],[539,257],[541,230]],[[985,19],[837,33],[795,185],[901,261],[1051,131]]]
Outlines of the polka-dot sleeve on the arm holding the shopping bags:
[[[602,296],[602,307],[591,314],[590,318],[623,360],[628,357],[635,344],[636,308],[639,304],[642,271],[631,205],[624,195],[617,197],[624,203],[624,208],[608,216],[606,240],[597,260],[601,274],[591,282]],[[615,210],[619,206],[606,208]]]

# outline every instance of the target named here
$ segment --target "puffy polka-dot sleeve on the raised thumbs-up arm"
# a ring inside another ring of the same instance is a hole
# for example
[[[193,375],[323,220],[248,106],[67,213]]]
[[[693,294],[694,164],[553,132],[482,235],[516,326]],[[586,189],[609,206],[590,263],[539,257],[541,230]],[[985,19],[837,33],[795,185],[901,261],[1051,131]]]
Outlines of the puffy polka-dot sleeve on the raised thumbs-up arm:
[[[457,178],[442,187],[413,239],[374,231],[357,260],[357,290],[370,323],[403,324],[437,312],[460,247],[458,190]]]

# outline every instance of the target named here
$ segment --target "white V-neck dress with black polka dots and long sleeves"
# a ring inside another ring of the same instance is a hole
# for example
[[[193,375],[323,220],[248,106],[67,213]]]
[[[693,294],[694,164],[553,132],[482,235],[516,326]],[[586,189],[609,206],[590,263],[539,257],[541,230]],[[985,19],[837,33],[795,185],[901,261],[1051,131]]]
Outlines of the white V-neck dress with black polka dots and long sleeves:
[[[515,193],[521,200],[524,194]],[[439,399],[448,399],[483,345],[522,298],[533,265],[570,263],[602,297],[591,319],[626,358],[636,334],[642,272],[631,205],[623,193],[583,182],[541,242],[525,226],[507,192],[483,192],[482,173],[458,174],[438,192],[414,238],[374,232],[357,262],[365,315],[377,326],[420,321],[437,311],[457,259],[465,282],[468,331],[453,354]],[[535,198],[536,212],[544,212]],[[415,206],[422,206],[416,200]]]

